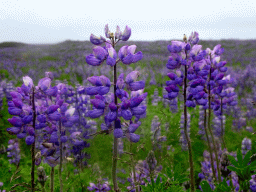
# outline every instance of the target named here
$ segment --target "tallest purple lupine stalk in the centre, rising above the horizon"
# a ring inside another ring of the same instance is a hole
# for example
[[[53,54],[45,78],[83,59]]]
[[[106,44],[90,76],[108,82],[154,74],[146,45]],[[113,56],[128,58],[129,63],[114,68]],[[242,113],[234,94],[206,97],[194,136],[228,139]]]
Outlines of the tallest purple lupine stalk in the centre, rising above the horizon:
[[[115,51],[115,45],[118,41],[127,41],[131,36],[131,29],[126,26],[124,32],[120,31],[119,26],[116,28],[116,33],[111,33],[109,31],[108,25],[105,26],[105,35],[110,40],[107,40],[104,37],[96,37],[95,35],[91,34],[90,41],[94,45],[101,45],[103,42],[106,43],[106,47],[102,48],[100,46],[96,46],[93,48],[93,54],[86,56],[86,62],[89,65],[99,66],[106,60],[107,65],[114,67],[114,95],[111,97],[111,102],[107,102],[106,98],[103,96],[109,92],[110,88],[110,80],[105,76],[93,76],[87,78],[89,82],[91,82],[96,87],[89,87],[86,89],[88,95],[95,95],[96,99],[92,99],[91,102],[94,105],[95,109],[88,111],[88,116],[91,118],[98,118],[101,115],[107,112],[108,114],[105,116],[105,124],[102,124],[101,129],[103,132],[100,133],[109,133],[110,131],[114,130],[114,147],[113,147],[113,164],[112,164],[112,180],[114,185],[114,191],[120,191],[117,184],[117,145],[118,145],[118,138],[123,136],[123,130],[121,126],[121,121],[118,117],[123,117],[125,120],[130,120],[130,126],[133,128],[128,128],[125,131],[126,137],[131,142],[138,142],[140,139],[139,135],[134,134],[135,130],[139,127],[140,124],[138,120],[140,115],[142,115],[145,110],[146,106],[138,106],[147,96],[147,93],[142,95],[136,95],[132,97],[130,100],[128,99],[129,94],[124,91],[124,87],[127,86],[128,90],[131,91],[138,91],[140,89],[144,89],[145,82],[144,81],[137,81],[137,77],[139,76],[138,71],[133,71],[127,75],[126,79],[124,80],[124,74],[122,73],[118,80],[117,80],[117,63],[122,61],[122,63],[129,65],[131,63],[136,63],[142,59],[143,55],[141,52],[134,54],[136,45],[131,46],[123,46],[119,52],[117,58],[117,53]],[[118,39],[118,40],[117,40]],[[117,40],[117,41],[116,41]],[[118,104],[117,97],[122,101],[121,104]],[[131,119],[135,116],[135,122]],[[114,122],[112,124],[111,122]],[[111,127],[114,127],[111,129]]]

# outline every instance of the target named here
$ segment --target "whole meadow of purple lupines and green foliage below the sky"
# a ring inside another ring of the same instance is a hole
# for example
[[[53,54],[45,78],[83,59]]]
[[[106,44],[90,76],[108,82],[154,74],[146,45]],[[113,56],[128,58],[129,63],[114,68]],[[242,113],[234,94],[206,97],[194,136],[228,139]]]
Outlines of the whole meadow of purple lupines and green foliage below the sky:
[[[0,190],[256,191],[255,40],[105,36],[2,44]]]

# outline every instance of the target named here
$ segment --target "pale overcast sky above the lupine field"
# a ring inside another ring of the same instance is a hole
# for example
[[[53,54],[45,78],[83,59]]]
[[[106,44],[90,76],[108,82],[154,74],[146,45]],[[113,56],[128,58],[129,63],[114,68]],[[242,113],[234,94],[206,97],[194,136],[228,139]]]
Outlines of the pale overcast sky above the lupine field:
[[[153,3],[151,3],[153,2]],[[256,39],[255,0],[0,0],[0,42],[58,43],[104,36],[119,25],[129,40]]]

